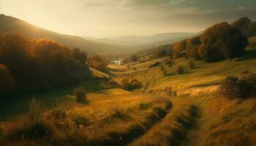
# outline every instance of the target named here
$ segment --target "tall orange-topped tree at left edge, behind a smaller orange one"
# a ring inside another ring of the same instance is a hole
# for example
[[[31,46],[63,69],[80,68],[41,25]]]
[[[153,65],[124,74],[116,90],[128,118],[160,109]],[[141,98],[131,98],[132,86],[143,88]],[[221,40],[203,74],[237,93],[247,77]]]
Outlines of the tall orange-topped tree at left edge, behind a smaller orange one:
[[[31,56],[31,41],[21,34],[1,34],[0,62],[10,70],[18,88],[33,87],[39,77],[38,62]]]

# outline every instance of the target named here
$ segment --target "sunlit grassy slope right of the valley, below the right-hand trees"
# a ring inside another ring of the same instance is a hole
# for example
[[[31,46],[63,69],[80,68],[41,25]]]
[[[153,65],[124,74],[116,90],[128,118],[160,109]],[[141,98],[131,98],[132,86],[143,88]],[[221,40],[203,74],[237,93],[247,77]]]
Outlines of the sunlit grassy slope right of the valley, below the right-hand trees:
[[[255,43],[251,37],[250,45]],[[156,62],[164,63],[165,58],[153,59],[144,63],[137,62],[120,66],[117,82],[132,75],[143,82],[140,91],[156,96],[169,96],[173,110],[184,107],[178,105],[185,100],[197,107],[197,117],[186,118],[187,113],[168,112],[167,118],[154,126],[148,134],[137,139],[133,145],[256,145],[255,119],[256,99],[227,99],[219,93],[219,84],[226,77],[239,76],[243,72],[256,73],[256,48],[249,47],[241,58],[232,62],[215,63],[195,62],[195,69],[189,69],[187,60],[176,59],[173,66],[149,67]],[[184,66],[184,74],[177,74],[177,66]],[[110,66],[111,67],[111,66]],[[136,68],[136,70],[134,70]],[[165,70],[165,72],[163,72]],[[167,93],[166,88],[176,92],[176,96]],[[184,115],[185,118],[177,118]],[[174,118],[173,118],[174,117]],[[175,120],[181,123],[176,124]],[[178,126],[177,126],[178,125]],[[174,142],[174,143],[173,143]]]

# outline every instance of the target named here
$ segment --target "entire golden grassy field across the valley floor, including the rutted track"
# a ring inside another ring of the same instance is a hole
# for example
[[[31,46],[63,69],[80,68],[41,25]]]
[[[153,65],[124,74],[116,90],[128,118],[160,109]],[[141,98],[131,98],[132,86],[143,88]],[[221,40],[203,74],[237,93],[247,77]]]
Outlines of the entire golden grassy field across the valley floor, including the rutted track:
[[[250,40],[252,44],[254,39]],[[91,69],[98,79],[80,84],[87,92],[84,104],[73,95],[78,85],[12,101],[8,107],[3,103],[0,120],[7,132],[0,133],[3,144],[256,145],[256,99],[229,100],[218,92],[225,77],[256,72],[255,49],[247,48],[242,58],[231,62],[195,61],[195,69],[189,69],[184,58],[176,59],[173,66],[149,67],[164,60],[109,66],[109,75]],[[178,65],[184,66],[184,74],[176,73]],[[133,76],[143,88],[112,87],[104,80],[110,76],[119,84]],[[32,97],[45,103],[47,110],[29,110],[26,103]],[[42,119],[31,120],[31,111]],[[38,127],[41,131],[35,132]]]

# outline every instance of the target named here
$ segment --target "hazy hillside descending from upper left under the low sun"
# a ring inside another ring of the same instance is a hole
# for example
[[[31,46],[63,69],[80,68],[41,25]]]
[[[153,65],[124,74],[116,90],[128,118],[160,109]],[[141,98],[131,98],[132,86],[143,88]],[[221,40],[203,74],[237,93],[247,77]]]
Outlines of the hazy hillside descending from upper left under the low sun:
[[[15,31],[20,32],[27,37],[39,39],[48,38],[53,39],[61,44],[68,45],[69,47],[79,47],[87,53],[98,53],[102,55],[129,53],[130,47],[126,45],[112,44],[110,42],[96,42],[93,40],[83,39],[82,37],[71,36],[67,34],[59,34],[53,31],[48,31],[44,28],[39,28],[26,23],[18,18],[12,18],[6,15],[0,15],[0,32]],[[137,49],[137,48],[136,48]]]

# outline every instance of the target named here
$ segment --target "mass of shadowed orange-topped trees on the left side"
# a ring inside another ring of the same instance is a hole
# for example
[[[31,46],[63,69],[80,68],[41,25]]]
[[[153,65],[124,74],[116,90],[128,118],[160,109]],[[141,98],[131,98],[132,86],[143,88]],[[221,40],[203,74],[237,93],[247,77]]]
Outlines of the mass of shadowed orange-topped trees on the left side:
[[[42,91],[88,80],[87,55],[50,39],[0,33],[0,95]]]

